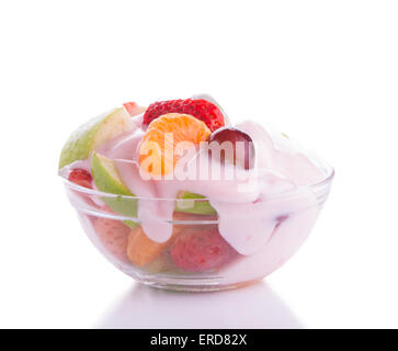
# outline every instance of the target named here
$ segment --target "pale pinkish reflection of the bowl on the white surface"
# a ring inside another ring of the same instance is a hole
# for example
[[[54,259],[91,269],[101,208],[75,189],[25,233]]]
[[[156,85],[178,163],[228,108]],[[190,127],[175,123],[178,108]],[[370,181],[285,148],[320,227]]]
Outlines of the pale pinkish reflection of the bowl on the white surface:
[[[234,291],[178,293],[136,284],[95,328],[302,328],[263,282]]]

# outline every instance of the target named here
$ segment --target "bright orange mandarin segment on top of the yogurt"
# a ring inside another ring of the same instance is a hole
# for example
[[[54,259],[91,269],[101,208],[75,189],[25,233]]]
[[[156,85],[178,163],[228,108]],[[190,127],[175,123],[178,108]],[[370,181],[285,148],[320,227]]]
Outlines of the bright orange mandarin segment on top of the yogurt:
[[[207,140],[211,134],[206,124],[192,115],[164,114],[148,126],[139,145],[139,166],[152,176],[170,174],[182,156],[175,148],[185,149],[190,143],[197,145]]]

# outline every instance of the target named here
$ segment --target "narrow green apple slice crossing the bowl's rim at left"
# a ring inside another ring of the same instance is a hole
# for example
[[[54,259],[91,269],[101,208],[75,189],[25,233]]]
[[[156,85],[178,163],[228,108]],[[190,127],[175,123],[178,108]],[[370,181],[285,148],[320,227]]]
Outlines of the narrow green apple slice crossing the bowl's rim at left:
[[[101,197],[107,206],[122,216],[137,217],[137,200],[123,197],[123,195],[134,196],[134,194],[123,183],[113,160],[93,152],[91,159],[91,173],[99,191],[120,195],[116,197]],[[138,226],[138,224],[133,220],[123,222],[130,228],[136,228]]]

